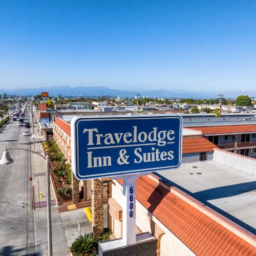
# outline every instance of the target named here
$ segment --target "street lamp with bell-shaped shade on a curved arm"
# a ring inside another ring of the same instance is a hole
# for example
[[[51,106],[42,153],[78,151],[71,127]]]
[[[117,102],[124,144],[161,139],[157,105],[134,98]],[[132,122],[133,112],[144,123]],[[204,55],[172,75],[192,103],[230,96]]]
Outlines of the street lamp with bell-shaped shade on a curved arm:
[[[41,154],[34,152],[32,150],[26,150],[25,148],[5,148],[2,153],[2,158],[0,164],[10,164],[13,163],[13,159],[10,156],[8,150],[24,150],[35,153],[46,160],[47,163],[47,227],[48,227],[48,255],[52,256],[52,219],[51,219],[51,195],[50,195],[50,165],[49,165],[49,153],[46,153],[46,157]]]

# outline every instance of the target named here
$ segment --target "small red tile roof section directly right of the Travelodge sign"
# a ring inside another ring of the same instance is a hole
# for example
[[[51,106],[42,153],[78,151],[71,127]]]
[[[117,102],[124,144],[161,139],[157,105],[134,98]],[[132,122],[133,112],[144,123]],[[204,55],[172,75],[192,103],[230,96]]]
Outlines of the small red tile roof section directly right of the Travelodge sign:
[[[196,152],[209,152],[214,151],[217,147],[205,138],[198,139],[184,139],[182,140],[182,153],[196,153]]]

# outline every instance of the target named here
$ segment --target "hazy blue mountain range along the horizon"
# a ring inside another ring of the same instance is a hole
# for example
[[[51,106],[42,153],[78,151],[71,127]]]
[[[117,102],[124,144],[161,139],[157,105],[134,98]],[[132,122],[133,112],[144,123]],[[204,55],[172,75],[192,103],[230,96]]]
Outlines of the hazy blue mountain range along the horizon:
[[[140,93],[141,97],[148,98],[216,98],[217,94],[222,93],[225,98],[236,98],[239,95],[248,95],[250,97],[256,96],[256,91],[252,90],[241,90],[241,91],[223,91],[223,92],[197,92],[197,91],[185,91],[185,90],[149,90],[149,91],[125,91],[116,90],[106,87],[71,87],[71,86],[52,86],[52,87],[40,87],[40,88],[15,88],[15,89],[2,89],[0,88],[0,94],[6,93],[7,95],[23,95],[30,96],[40,94],[41,92],[49,92],[49,96],[58,96],[59,94],[63,97],[93,97],[93,96],[120,96],[122,98],[129,97],[134,98],[136,93]]]

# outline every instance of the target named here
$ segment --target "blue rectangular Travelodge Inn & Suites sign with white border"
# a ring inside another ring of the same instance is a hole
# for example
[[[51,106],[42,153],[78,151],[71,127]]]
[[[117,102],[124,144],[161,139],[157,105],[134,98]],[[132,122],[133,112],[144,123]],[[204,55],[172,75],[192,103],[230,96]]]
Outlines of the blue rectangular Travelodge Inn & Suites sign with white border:
[[[178,168],[182,118],[177,115],[76,117],[72,169],[87,180]]]

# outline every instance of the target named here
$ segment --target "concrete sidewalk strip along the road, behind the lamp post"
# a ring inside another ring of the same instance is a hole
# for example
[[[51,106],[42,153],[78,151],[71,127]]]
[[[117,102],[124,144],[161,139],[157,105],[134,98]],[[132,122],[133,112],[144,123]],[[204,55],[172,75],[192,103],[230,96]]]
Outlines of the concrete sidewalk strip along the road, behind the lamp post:
[[[32,133],[32,129],[31,129]],[[38,124],[34,124],[35,152],[44,155],[41,146],[41,136]],[[32,136],[31,136],[31,141]],[[33,144],[31,145],[33,150]],[[46,161],[37,154],[31,154],[32,162],[32,185],[34,200],[34,232],[35,232],[35,253],[48,255],[47,240],[47,207],[46,207]],[[39,197],[42,192],[42,198]],[[51,216],[52,216],[52,248],[53,255],[70,255],[68,242],[63,228],[62,220],[54,198],[51,185]]]

